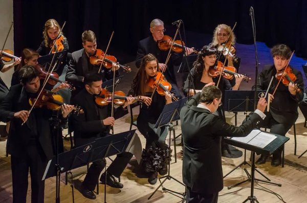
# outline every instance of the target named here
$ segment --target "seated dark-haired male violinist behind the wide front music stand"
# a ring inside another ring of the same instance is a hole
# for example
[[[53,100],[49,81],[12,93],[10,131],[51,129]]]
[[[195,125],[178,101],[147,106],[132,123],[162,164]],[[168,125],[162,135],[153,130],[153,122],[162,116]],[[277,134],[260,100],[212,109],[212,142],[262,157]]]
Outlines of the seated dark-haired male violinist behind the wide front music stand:
[[[81,106],[84,113],[80,115],[72,114],[71,124],[74,130],[75,146],[86,145],[93,142],[97,138],[109,135],[111,126],[115,125],[115,120],[128,114],[127,105],[131,104],[134,99],[126,97],[126,101],[122,106],[119,106],[114,111],[114,117],[111,117],[112,104],[99,106],[95,100],[101,93],[101,74],[95,70],[84,75],[84,86],[72,100],[74,105]],[[113,188],[123,188],[115,177],[120,177],[126,165],[130,161],[133,154],[123,152],[118,154],[116,159],[107,168],[106,184]],[[101,171],[105,167],[105,160],[98,160],[93,162],[86,174],[81,187],[81,193],[84,197],[95,199],[95,187],[98,183],[98,178]],[[114,177],[115,176],[115,177]],[[105,184],[105,173],[100,176],[100,182]]]

